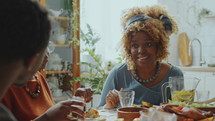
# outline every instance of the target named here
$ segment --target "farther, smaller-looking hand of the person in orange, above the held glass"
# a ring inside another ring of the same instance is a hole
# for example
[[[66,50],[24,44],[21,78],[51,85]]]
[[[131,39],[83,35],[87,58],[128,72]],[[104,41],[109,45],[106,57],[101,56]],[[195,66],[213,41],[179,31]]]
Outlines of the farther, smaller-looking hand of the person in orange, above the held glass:
[[[90,88],[78,88],[75,96],[83,97],[85,102],[90,102],[93,98],[93,91]]]

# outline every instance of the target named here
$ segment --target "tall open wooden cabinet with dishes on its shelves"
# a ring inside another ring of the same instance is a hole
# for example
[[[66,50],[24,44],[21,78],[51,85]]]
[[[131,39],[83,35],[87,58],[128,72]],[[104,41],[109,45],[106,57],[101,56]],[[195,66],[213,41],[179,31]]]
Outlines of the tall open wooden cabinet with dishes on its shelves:
[[[70,78],[80,76],[80,1],[39,2],[47,8],[52,24],[46,77],[53,96],[62,97],[62,91],[71,91]]]

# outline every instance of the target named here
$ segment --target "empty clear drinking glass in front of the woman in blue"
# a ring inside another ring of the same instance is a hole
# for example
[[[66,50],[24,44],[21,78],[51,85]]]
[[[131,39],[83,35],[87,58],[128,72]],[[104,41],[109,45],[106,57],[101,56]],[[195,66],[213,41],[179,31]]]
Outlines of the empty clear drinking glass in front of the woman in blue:
[[[119,91],[119,100],[120,100],[120,105],[122,107],[131,107],[134,102],[134,95],[135,92],[130,90],[130,91]]]

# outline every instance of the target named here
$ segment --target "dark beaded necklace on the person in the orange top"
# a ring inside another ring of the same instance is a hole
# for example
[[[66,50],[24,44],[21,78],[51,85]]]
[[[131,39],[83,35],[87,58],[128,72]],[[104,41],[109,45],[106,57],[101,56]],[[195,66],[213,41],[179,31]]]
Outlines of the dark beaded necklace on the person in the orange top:
[[[24,87],[25,91],[28,93],[28,95],[31,98],[37,98],[39,96],[39,94],[40,94],[41,84],[40,84],[40,81],[37,80],[36,76],[35,76],[35,79],[36,79],[37,83],[36,83],[36,87],[35,87],[35,91],[34,92],[31,92],[30,89],[27,87],[27,85]]]

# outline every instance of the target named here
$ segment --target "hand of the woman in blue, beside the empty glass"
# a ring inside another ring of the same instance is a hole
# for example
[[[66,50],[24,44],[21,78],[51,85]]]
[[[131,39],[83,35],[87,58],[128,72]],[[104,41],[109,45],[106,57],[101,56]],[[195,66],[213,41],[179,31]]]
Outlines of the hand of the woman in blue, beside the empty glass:
[[[124,91],[123,88],[120,89],[120,91]],[[113,109],[117,107],[120,104],[118,91],[117,90],[111,90],[106,96],[106,104],[104,105],[105,109]]]

